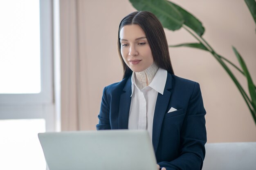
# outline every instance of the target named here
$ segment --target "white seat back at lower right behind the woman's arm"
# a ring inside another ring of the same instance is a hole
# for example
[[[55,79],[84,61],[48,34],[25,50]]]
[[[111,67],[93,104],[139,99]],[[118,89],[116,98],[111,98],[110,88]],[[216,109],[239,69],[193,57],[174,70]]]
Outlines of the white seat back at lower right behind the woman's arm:
[[[256,142],[205,145],[202,170],[256,170]]]

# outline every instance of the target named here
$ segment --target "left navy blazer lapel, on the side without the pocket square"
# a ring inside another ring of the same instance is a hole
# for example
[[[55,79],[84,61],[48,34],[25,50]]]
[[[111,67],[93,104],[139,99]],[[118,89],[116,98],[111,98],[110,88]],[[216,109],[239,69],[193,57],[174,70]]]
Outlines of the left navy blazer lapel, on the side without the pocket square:
[[[132,82],[129,78],[124,86],[123,92],[120,95],[119,102],[119,116],[118,116],[118,127],[119,129],[128,129],[128,119],[130,112],[131,104],[131,95],[132,95]]]

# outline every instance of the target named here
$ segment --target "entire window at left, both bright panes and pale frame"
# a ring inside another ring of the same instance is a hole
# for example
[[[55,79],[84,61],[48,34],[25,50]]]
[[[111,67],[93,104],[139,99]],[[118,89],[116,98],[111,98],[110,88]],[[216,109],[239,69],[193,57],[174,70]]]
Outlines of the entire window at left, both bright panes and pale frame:
[[[45,170],[37,133],[55,130],[52,0],[1,0],[0,21],[0,169]]]

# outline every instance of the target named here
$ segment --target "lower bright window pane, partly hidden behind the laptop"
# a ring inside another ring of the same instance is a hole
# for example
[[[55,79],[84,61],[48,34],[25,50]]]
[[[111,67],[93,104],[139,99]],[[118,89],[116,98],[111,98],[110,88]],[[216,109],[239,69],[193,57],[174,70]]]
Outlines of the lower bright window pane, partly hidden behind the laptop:
[[[45,170],[38,132],[45,132],[45,119],[0,120],[0,169]]]

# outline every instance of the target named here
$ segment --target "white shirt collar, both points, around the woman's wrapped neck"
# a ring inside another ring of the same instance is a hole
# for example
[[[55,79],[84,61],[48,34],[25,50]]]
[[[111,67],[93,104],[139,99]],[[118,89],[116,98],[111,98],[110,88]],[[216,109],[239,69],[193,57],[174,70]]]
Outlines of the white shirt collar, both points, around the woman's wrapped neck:
[[[158,93],[161,93],[162,95],[164,94],[164,87],[166,84],[166,79],[167,79],[167,71],[164,70],[163,68],[159,68],[157,73],[155,74],[155,77],[153,78],[152,82],[148,85],[151,88],[153,88],[155,91]],[[134,91],[134,86],[136,86],[135,83],[135,72],[132,72],[132,94]],[[132,97],[132,94],[130,97]]]

